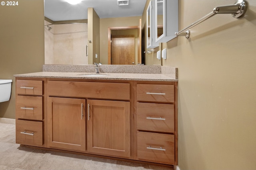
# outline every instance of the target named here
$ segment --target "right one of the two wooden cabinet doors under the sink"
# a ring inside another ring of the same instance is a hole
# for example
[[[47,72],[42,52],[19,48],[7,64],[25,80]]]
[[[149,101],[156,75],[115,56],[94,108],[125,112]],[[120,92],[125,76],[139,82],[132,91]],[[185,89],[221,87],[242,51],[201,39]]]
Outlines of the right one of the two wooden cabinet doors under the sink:
[[[130,102],[87,100],[88,152],[130,157]]]

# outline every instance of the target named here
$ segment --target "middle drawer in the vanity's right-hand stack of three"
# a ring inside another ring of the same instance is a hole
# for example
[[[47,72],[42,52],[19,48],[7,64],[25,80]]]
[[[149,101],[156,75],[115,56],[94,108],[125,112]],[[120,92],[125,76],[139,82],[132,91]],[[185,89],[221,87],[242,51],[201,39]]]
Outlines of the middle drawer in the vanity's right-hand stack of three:
[[[174,105],[138,102],[137,129],[174,133]]]

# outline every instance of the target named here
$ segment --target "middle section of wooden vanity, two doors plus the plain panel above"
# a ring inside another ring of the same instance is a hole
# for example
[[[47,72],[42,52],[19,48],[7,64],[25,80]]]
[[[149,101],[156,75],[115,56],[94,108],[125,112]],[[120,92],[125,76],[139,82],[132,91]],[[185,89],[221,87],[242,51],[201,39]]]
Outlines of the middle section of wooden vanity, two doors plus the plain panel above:
[[[129,83],[49,80],[46,88],[48,147],[130,158]]]

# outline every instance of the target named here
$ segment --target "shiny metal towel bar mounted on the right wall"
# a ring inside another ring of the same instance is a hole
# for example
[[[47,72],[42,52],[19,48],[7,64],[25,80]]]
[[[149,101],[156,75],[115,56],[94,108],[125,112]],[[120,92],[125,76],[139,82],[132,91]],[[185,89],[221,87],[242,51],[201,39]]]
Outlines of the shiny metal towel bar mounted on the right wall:
[[[204,16],[203,18],[200,18],[199,20],[195,21],[194,23],[192,23],[188,27],[180,30],[179,32],[176,32],[175,35],[176,36],[178,36],[178,35],[185,36],[186,38],[189,38],[190,37],[189,29],[198,25],[202,21],[205,21],[205,20],[211,18],[212,16],[214,16],[216,14],[232,14],[232,16],[234,18],[240,18],[240,17],[244,16],[244,14],[246,12],[246,9],[247,9],[247,3],[244,0],[238,0],[236,2],[236,4],[234,4],[234,5],[216,7],[216,8],[213,9],[212,12],[210,12],[209,14]]]

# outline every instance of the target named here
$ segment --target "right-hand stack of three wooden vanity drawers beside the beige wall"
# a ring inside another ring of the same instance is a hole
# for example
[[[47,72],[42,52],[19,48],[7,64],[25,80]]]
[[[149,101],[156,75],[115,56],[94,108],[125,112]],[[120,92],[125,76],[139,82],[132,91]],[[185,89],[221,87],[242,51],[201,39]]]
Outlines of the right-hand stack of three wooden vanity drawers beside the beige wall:
[[[138,160],[177,164],[176,85],[138,82],[134,87]]]

